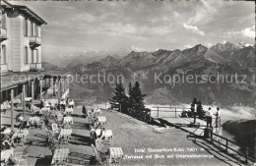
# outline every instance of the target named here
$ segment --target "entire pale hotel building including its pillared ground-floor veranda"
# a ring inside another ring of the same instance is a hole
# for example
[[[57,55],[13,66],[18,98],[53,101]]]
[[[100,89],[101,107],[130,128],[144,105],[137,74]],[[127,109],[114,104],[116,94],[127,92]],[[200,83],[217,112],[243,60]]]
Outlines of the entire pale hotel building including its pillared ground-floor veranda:
[[[10,109],[14,129],[15,104],[25,117],[27,101],[34,105],[47,101],[55,106],[68,100],[69,72],[41,68],[41,27],[46,22],[27,6],[0,2],[0,110]]]

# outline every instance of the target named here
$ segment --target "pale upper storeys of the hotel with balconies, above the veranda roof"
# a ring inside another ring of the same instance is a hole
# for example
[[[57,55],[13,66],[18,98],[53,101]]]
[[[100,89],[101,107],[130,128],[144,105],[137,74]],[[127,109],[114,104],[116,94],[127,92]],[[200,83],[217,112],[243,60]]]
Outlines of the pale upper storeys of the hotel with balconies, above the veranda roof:
[[[41,69],[41,27],[46,25],[26,6],[1,0],[1,75]]]

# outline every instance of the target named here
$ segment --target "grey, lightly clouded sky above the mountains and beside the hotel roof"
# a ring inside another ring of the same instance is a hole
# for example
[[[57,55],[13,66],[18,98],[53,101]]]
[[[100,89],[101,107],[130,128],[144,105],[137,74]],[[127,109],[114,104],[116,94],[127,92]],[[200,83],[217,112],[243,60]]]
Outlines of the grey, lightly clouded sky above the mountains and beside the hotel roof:
[[[43,54],[122,54],[185,49],[196,44],[255,43],[249,1],[24,1],[47,22]]]

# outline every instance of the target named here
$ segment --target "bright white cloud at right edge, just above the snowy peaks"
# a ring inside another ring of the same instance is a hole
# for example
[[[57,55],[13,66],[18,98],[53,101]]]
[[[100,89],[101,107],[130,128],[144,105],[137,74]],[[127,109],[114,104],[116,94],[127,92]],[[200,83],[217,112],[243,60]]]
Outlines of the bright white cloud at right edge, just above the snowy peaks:
[[[255,38],[255,26],[252,26],[250,28],[243,28],[238,31],[227,31],[225,32],[225,35],[229,38],[241,37],[241,36]]]

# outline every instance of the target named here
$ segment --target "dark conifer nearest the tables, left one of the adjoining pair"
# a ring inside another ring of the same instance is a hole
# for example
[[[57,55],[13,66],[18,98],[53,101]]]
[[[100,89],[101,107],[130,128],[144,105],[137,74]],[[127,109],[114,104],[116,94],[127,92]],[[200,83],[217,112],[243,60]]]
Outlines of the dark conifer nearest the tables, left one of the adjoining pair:
[[[110,99],[111,108],[127,113],[128,97],[125,95],[123,83],[115,83],[114,95]]]

